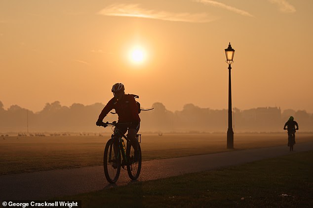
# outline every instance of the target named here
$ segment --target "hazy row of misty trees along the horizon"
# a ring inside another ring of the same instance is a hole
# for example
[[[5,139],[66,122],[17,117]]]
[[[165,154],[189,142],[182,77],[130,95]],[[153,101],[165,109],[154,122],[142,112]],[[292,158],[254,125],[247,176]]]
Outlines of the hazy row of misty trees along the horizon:
[[[60,102],[45,104],[39,112],[18,105],[3,108],[0,102],[0,132],[103,132],[95,126],[104,104],[72,104],[62,106]],[[185,104],[182,110],[170,111],[162,103],[154,103],[154,110],[142,111],[141,132],[226,132],[228,110],[201,108]],[[238,132],[282,132],[289,116],[294,116],[301,131],[313,131],[313,114],[306,110],[279,107],[257,107],[233,109],[233,128]],[[117,115],[108,114],[104,121],[117,120]]]

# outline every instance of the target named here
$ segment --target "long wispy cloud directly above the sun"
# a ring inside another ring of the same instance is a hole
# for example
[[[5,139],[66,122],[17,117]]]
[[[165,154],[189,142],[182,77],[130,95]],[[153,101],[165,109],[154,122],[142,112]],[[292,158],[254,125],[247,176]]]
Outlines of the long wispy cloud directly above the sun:
[[[106,16],[140,17],[165,21],[195,23],[211,22],[216,19],[206,13],[174,13],[167,11],[155,11],[141,8],[139,4],[112,4],[99,11],[98,14]]]

